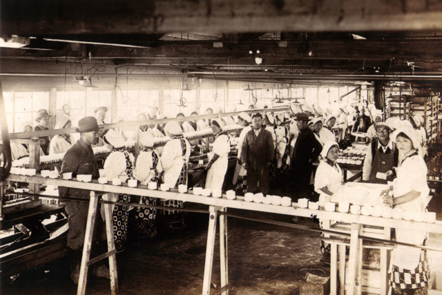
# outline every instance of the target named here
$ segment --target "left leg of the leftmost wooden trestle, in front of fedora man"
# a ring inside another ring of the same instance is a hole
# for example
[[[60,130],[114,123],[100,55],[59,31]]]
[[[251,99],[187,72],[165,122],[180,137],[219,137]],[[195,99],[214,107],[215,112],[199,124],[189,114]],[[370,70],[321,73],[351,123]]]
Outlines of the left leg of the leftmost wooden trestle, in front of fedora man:
[[[78,280],[77,295],[86,293],[86,279],[88,276],[88,261],[90,256],[90,246],[94,233],[95,216],[97,216],[98,197],[95,191],[90,192],[90,202],[88,210],[88,222],[86,223],[86,234],[84,235],[83,255],[81,256],[81,267]]]

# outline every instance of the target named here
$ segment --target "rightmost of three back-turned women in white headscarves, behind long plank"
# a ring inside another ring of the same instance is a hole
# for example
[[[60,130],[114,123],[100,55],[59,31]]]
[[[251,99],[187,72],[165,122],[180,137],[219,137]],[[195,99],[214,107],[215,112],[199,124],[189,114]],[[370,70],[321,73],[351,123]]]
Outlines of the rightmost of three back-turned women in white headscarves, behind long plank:
[[[182,135],[178,122],[169,121],[164,126],[166,136],[171,140],[164,145],[161,155],[161,164],[164,170],[164,184],[169,188],[178,188],[178,185],[187,185],[187,164],[191,155],[191,144]],[[178,200],[163,200],[162,206],[182,208],[183,202]],[[178,230],[185,227],[182,211],[161,210],[164,226],[169,230]]]

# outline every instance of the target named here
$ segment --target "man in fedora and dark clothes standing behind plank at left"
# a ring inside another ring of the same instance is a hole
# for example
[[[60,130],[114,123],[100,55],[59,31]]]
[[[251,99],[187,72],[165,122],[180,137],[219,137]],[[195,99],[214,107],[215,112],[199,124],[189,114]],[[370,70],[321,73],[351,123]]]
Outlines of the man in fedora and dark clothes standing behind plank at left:
[[[91,145],[98,142],[99,126],[95,117],[84,117],[79,120],[77,132],[80,139],[66,151],[61,162],[61,174],[72,173],[73,177],[79,174],[90,174],[93,179],[99,176],[98,165],[95,160]],[[59,187],[59,196],[63,198],[89,199],[90,191],[85,189],[73,189]],[[86,233],[86,221],[88,220],[88,202],[68,200],[65,210],[68,213],[68,248],[72,250],[73,265],[70,277],[78,283],[79,267],[81,262],[81,247],[84,244]],[[99,216],[99,214],[97,214]],[[105,240],[106,231],[101,218],[95,220],[94,240]]]

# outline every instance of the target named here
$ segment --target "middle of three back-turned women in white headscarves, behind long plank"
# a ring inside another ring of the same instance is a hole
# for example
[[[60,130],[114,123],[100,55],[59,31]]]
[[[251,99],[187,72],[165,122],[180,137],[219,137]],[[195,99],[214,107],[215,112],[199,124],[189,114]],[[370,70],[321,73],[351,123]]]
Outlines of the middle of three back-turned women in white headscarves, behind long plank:
[[[147,132],[140,133],[140,146],[142,151],[137,157],[135,179],[140,184],[147,185],[149,182],[157,182],[163,172],[160,154],[154,149],[154,140],[151,134]],[[142,196],[140,204],[157,205],[157,198]],[[135,212],[135,231],[139,238],[153,238],[157,235],[157,209],[152,207],[137,207]]]

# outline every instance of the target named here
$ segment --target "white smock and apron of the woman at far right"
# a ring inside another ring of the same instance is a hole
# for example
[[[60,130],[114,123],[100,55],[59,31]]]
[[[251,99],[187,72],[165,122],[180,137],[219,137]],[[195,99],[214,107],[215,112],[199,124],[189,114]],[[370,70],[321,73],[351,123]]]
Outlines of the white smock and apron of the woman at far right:
[[[398,204],[395,208],[404,211],[425,212],[430,198],[430,189],[427,184],[427,165],[420,155],[405,158],[398,166],[397,178],[393,182],[393,196],[403,196],[412,190],[419,191],[421,195],[411,202]],[[425,231],[411,229],[396,229],[396,240],[414,245],[422,245],[426,236]],[[403,269],[415,269],[419,265],[421,249],[398,245],[392,251],[392,264]]]

